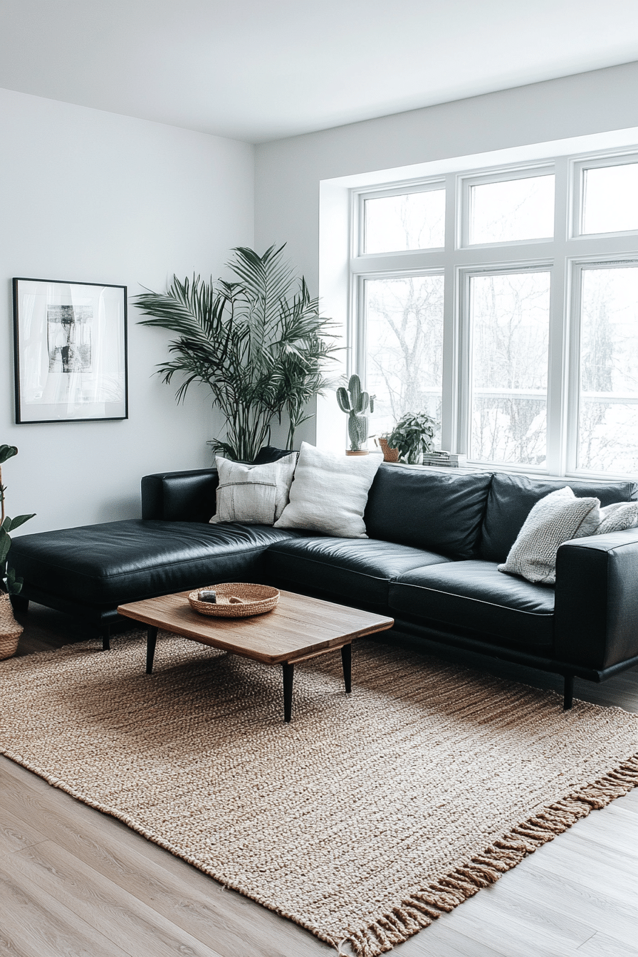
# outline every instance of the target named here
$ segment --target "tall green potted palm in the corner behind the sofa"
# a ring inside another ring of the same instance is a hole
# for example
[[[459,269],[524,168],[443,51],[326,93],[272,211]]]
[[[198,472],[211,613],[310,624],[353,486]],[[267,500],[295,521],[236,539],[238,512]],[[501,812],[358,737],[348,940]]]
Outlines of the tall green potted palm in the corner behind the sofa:
[[[331,385],[325,375],[336,349],[330,322],[319,316],[319,300],[284,260],[283,248],[271,246],[263,256],[234,249],[228,265],[236,281],[173,277],[165,293],[136,298],[152,317],[143,325],[177,333],[168,346],[171,359],[159,373],[166,383],[176,373],[185,377],[178,401],[192,382],[209,386],[213,405],[226,419],[226,436],[210,445],[235,460],[253,461],[283,414],[292,448],[298,426],[309,417],[307,403]]]

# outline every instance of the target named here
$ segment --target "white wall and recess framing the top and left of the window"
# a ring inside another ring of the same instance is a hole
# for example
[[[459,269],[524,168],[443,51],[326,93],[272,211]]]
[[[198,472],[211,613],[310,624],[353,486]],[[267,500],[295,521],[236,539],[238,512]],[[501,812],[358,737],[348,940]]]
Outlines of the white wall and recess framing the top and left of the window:
[[[628,63],[258,145],[255,245],[287,241],[311,292],[327,301],[334,277],[319,278],[321,181],[625,130],[638,126],[637,89],[638,62]],[[556,155],[555,145],[548,149]],[[319,409],[330,403],[332,396]],[[298,437],[315,441],[314,422]]]

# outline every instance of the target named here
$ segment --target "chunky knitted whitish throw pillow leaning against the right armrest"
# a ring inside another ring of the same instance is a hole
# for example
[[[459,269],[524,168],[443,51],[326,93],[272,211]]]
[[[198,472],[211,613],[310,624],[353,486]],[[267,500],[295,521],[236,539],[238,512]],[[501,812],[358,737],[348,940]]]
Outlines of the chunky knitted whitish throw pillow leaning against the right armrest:
[[[529,582],[554,585],[559,546],[595,534],[600,505],[600,499],[577,499],[569,485],[550,492],[527,516],[507,561],[498,570],[522,575]]]

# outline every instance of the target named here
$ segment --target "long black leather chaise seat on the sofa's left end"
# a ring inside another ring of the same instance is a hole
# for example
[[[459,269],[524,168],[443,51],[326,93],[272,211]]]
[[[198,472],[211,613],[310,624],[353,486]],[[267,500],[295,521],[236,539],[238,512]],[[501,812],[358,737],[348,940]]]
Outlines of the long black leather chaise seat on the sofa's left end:
[[[118,605],[218,581],[251,580],[261,552],[289,538],[264,525],[130,520],[23,535],[11,565],[25,585]]]

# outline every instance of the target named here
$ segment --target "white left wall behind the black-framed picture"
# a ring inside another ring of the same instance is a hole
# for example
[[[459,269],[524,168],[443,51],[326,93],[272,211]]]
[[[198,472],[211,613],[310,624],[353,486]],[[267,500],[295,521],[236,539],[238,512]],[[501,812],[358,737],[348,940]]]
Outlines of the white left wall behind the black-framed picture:
[[[25,534],[140,514],[140,479],[211,462],[219,417],[208,393],[153,374],[170,334],[137,324],[129,302],[129,418],[15,425],[11,277],[142,286],[224,272],[253,245],[253,146],[0,90],[0,444],[10,515]]]

